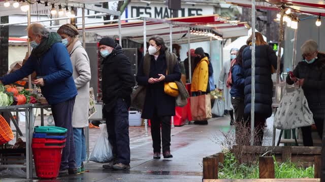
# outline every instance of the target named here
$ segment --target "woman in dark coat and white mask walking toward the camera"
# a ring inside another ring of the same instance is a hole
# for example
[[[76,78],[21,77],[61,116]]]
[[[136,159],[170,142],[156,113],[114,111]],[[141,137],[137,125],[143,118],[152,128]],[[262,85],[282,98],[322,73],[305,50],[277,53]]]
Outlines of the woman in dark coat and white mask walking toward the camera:
[[[165,94],[164,83],[179,81],[181,72],[176,55],[166,50],[163,38],[153,36],[149,43],[149,54],[140,63],[136,77],[139,85],[146,86],[142,118],[150,119],[151,122],[153,158],[160,159],[161,142],[164,158],[172,158],[171,116],[175,115],[175,97]]]

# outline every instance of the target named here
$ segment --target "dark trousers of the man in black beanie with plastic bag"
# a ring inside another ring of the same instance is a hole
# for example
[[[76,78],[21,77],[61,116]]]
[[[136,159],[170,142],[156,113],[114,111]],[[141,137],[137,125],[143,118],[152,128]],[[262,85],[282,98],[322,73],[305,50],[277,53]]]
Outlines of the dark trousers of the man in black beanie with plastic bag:
[[[128,108],[123,99],[117,99],[116,106],[107,112],[103,109],[106,118],[108,140],[113,147],[113,154],[117,157],[117,163],[129,164],[130,139],[128,136]]]

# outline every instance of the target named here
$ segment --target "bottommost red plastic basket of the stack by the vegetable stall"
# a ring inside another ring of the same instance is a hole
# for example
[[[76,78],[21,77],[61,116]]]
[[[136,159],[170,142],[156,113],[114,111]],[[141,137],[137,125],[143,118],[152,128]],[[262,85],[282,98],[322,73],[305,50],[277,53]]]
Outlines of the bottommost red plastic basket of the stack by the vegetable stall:
[[[66,147],[65,143],[40,143],[32,144],[31,147],[34,156],[36,175],[46,179],[56,178],[60,169],[62,149]]]

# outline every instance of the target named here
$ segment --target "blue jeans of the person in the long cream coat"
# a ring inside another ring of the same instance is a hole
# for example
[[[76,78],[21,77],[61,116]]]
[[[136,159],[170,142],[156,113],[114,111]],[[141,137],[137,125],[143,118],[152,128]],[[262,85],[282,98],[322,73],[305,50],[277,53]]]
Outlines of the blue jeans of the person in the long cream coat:
[[[86,138],[83,128],[73,128],[73,136],[76,147],[76,164],[77,167],[81,166],[81,163],[86,160]]]

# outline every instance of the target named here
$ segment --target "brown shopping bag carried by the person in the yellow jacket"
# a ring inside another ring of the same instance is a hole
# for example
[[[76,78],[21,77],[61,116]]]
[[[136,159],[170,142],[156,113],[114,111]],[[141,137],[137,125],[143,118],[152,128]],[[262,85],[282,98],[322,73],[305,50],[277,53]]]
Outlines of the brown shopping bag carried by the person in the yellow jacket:
[[[194,121],[204,121],[212,117],[210,95],[190,97],[192,119]]]

